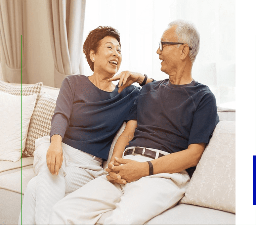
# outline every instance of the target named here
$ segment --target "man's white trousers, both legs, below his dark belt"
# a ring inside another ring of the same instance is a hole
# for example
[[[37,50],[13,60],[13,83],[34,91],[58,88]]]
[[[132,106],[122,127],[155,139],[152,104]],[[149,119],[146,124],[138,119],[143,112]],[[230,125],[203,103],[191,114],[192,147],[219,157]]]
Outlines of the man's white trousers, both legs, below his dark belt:
[[[152,160],[142,155],[126,155],[124,159]],[[189,180],[186,171],[151,175],[127,184],[112,184],[103,175],[55,204],[49,224],[95,224],[110,210],[113,214],[104,224],[144,224],[175,206]]]

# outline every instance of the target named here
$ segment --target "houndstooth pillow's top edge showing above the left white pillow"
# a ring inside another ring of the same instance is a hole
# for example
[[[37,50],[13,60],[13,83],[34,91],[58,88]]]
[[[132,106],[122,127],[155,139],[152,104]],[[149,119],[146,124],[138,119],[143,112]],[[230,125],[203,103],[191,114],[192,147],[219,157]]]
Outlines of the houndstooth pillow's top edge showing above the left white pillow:
[[[8,94],[12,94],[12,95],[23,95],[23,96],[36,94],[37,100],[41,92],[42,86],[43,86],[42,82],[22,87],[21,85],[12,85],[4,81],[0,81],[0,91],[3,91]]]

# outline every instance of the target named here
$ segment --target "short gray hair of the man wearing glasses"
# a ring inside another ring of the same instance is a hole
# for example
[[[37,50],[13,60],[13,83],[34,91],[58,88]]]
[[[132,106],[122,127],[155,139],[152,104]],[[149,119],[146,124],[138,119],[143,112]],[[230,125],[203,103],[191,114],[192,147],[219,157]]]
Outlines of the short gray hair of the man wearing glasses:
[[[169,23],[168,28],[176,27],[175,34],[178,42],[187,44],[192,50],[189,51],[189,59],[193,64],[199,52],[200,35],[195,26],[185,20],[174,20]],[[177,47],[180,47],[178,45]]]

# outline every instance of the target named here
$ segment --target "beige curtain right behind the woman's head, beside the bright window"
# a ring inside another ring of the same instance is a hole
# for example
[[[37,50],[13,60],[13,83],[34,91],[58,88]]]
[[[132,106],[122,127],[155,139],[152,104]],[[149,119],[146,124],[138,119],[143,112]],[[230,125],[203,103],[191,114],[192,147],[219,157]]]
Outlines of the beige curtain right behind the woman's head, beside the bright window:
[[[60,87],[68,75],[83,74],[82,47],[85,0],[46,0],[54,85]]]

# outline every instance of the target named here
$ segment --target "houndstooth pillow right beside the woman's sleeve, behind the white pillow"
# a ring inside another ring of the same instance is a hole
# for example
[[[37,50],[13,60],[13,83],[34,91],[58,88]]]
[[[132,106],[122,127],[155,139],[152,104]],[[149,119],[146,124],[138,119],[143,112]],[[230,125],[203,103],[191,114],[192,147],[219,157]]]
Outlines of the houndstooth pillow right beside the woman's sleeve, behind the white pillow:
[[[56,106],[56,97],[47,93],[39,96],[34,113],[30,120],[26,147],[23,156],[33,156],[35,151],[35,140],[46,135],[50,135],[51,118]]]

